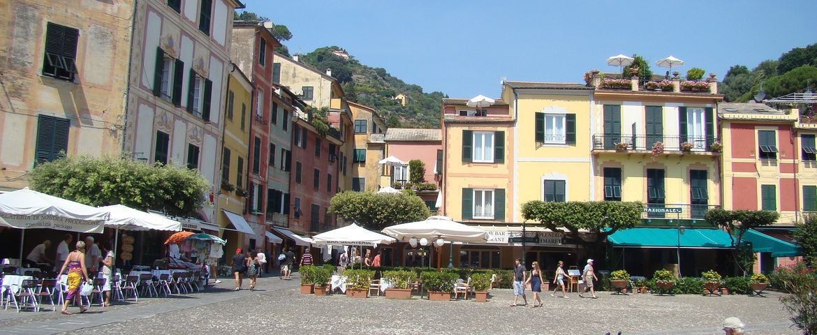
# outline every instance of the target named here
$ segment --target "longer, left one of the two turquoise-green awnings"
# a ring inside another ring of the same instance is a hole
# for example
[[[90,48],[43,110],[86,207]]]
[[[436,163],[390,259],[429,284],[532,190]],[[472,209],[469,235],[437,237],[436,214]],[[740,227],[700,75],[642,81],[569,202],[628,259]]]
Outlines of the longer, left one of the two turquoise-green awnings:
[[[686,228],[680,236],[676,228],[630,228],[616,231],[607,240],[617,248],[732,248],[725,231],[703,228]]]

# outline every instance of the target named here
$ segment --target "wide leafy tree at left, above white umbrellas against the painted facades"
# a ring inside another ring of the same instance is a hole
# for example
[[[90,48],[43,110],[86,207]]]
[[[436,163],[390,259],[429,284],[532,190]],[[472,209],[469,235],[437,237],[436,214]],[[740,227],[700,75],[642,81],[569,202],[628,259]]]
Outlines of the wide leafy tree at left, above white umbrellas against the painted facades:
[[[121,203],[190,217],[202,208],[210,183],[200,172],[127,157],[65,157],[38,164],[31,188],[90,206]]]

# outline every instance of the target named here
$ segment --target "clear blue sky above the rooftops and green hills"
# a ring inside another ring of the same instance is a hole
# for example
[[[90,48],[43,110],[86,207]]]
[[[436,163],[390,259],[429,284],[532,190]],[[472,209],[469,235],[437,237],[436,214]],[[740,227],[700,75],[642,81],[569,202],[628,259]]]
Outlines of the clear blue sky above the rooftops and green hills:
[[[609,56],[666,56],[722,79],[817,42],[813,0],[768,1],[270,1],[248,11],[287,25],[291,53],[338,46],[425,92],[499,95],[508,80],[579,83],[614,72]],[[307,4],[308,3],[308,4]],[[780,3],[778,5],[778,3]],[[674,70],[675,68],[673,68]]]

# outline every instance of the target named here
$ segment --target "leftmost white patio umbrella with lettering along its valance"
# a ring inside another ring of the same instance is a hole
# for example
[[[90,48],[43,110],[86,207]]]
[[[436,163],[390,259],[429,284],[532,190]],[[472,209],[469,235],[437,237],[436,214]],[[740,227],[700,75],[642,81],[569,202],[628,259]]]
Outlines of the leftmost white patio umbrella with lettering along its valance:
[[[0,226],[22,230],[20,265],[23,264],[25,230],[50,228],[79,233],[99,234],[109,212],[83,203],[29,190],[0,194]]]

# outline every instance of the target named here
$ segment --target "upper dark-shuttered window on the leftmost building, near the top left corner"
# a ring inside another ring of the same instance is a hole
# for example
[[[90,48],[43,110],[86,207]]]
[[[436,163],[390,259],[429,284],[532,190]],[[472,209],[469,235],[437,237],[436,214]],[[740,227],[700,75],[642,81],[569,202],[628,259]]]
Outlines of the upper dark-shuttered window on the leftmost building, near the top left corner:
[[[79,30],[48,22],[42,75],[74,81]]]

